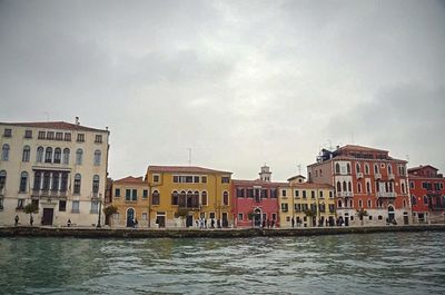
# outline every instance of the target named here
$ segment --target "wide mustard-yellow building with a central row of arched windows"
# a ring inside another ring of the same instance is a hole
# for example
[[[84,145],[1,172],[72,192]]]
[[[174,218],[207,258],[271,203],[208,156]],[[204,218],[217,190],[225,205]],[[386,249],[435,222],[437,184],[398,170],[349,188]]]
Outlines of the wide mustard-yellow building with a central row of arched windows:
[[[191,166],[149,166],[150,224],[190,227],[233,225],[231,173]],[[197,224],[198,222],[198,224]]]

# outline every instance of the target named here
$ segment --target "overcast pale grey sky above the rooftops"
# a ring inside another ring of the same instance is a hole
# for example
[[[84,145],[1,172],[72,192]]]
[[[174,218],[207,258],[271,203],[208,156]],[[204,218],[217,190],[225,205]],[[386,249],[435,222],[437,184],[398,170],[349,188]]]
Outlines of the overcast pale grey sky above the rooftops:
[[[445,1],[0,0],[0,121],[109,127],[113,179],[347,144],[445,171],[444,48]]]

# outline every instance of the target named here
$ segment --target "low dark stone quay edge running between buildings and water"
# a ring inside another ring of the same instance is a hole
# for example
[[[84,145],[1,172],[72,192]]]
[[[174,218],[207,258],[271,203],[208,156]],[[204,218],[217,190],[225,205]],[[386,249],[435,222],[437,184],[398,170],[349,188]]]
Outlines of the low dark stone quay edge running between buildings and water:
[[[357,227],[309,227],[309,228],[93,228],[93,227],[0,227],[0,237],[79,237],[79,238],[241,238],[274,236],[319,236],[345,234],[373,234],[396,232],[445,232],[445,224],[406,226],[357,226]]]

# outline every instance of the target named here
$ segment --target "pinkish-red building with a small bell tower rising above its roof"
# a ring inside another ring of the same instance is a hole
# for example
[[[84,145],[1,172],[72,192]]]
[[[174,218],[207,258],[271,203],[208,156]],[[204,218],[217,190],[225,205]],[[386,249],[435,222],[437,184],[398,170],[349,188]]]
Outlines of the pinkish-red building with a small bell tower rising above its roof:
[[[261,167],[259,179],[233,180],[233,214],[237,227],[279,226],[278,186],[271,183],[269,167]]]

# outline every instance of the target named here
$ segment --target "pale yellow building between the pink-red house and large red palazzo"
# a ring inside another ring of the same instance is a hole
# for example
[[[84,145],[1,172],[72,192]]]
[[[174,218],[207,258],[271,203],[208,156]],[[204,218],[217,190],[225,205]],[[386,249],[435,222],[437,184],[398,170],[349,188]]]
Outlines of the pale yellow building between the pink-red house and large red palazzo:
[[[304,176],[288,179],[279,187],[280,227],[335,225],[334,187],[306,183]]]

